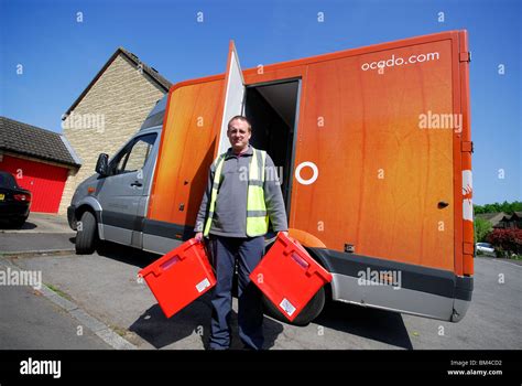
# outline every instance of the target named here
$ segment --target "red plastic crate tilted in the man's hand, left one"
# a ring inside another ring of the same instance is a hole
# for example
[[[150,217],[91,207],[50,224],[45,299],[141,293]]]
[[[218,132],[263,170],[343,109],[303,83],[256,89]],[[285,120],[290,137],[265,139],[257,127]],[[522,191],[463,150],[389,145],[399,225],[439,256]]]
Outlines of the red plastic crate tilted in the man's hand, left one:
[[[207,292],[216,277],[202,243],[192,238],[140,272],[166,318]]]

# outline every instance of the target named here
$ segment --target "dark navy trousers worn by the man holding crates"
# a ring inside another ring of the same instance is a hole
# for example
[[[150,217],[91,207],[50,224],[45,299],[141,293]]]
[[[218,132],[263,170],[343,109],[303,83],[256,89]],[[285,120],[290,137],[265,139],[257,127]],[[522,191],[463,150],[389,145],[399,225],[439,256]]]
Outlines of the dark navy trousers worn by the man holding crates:
[[[261,291],[249,275],[264,255],[264,237],[235,238],[210,236],[210,251],[216,269],[210,322],[210,349],[230,347],[230,315],[232,312],[232,277],[238,258],[238,324],[239,337],[246,347],[263,346],[263,305]]]

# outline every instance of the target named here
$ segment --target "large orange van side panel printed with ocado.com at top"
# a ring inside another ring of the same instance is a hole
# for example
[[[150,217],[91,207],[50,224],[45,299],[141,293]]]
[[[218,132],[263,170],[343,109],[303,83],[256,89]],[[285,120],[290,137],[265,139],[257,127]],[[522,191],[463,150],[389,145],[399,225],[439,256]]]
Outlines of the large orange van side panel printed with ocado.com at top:
[[[358,255],[454,271],[454,130],[442,127],[454,114],[452,44],[308,65],[294,168],[313,162],[318,173],[294,184],[292,227],[334,250],[352,244]],[[400,57],[423,61],[362,68]]]

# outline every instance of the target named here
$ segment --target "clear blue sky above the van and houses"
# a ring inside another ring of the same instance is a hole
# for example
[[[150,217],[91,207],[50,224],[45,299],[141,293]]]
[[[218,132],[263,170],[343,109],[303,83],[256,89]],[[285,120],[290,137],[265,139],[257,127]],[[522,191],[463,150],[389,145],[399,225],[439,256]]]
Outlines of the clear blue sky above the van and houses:
[[[62,114],[120,45],[176,83],[222,73],[230,39],[248,68],[467,29],[474,201],[520,201],[521,14],[515,0],[0,0],[0,115],[61,132]]]

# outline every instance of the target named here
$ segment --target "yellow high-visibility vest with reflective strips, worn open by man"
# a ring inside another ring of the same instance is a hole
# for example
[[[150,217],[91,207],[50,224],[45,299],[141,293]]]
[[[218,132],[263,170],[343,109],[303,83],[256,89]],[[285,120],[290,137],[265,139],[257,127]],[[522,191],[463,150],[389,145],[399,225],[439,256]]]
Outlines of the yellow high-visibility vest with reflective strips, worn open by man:
[[[250,160],[250,170],[248,176],[247,192],[247,236],[262,236],[269,230],[269,215],[264,204],[264,164],[267,152],[252,148],[252,159]],[[208,236],[213,224],[214,210],[221,179],[222,164],[226,153],[219,156],[216,161],[216,173],[214,174],[213,190],[210,194],[210,206],[208,210],[207,222],[205,224],[204,236]]]

